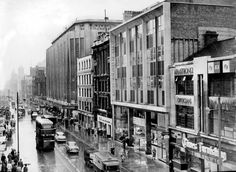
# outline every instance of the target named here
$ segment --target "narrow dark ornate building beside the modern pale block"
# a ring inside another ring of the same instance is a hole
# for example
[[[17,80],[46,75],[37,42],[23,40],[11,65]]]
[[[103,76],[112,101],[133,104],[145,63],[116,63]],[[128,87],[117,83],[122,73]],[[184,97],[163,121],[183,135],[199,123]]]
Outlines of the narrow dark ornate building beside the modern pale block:
[[[94,115],[99,133],[113,137],[110,101],[109,35],[101,34],[93,44]]]

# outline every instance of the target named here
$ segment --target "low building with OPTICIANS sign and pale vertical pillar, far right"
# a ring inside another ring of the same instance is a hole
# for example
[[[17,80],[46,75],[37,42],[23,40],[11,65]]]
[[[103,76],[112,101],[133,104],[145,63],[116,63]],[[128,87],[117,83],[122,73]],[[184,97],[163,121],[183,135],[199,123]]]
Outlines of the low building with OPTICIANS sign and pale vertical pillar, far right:
[[[172,66],[169,154],[174,169],[236,169],[235,47],[235,38],[218,41],[193,60]]]

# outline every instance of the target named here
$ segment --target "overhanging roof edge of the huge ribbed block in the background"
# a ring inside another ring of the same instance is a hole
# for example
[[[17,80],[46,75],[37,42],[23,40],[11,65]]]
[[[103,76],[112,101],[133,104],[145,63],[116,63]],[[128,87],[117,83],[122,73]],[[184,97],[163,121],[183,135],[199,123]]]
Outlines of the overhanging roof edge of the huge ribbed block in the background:
[[[82,24],[82,23],[122,23],[122,20],[108,20],[105,22],[104,19],[83,19],[83,20],[75,20],[66,30],[64,30],[59,36],[57,36],[51,44],[54,44],[62,35],[64,35],[66,32],[68,32],[73,26],[77,24]]]

